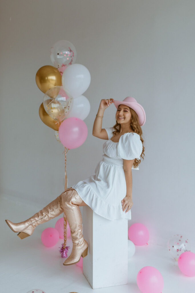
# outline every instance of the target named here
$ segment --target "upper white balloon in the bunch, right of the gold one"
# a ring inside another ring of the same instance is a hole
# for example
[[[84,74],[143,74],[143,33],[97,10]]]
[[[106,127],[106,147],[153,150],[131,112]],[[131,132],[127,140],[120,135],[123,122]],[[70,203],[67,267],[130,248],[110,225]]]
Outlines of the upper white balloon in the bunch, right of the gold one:
[[[65,91],[69,91],[73,98],[78,98],[87,91],[90,82],[90,72],[82,64],[72,64],[62,74],[62,86]]]

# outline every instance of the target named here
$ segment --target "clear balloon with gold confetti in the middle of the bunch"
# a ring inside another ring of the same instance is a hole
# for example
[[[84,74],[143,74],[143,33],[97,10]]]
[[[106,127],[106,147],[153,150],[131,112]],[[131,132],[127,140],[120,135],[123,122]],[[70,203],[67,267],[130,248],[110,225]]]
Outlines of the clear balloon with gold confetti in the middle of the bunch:
[[[73,98],[62,86],[54,86],[46,91],[43,106],[46,113],[58,122],[62,122],[72,109]]]

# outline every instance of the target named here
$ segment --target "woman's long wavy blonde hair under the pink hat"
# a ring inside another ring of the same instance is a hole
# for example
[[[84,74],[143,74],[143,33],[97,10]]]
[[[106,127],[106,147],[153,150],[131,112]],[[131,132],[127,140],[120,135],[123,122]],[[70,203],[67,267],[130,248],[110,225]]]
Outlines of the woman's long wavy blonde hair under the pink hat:
[[[138,115],[137,115],[137,113],[132,108],[129,107],[129,109],[130,109],[130,113],[131,113],[130,126],[132,127],[132,129],[133,129],[134,132],[136,132],[137,134],[140,135],[140,140],[141,140],[142,146],[143,146],[142,153],[141,153],[141,156],[140,157],[144,160],[144,156],[145,156],[145,154],[144,154],[144,149],[145,148],[144,148],[144,145],[143,145],[144,139],[141,137],[142,130],[141,130],[141,126],[139,125]],[[116,120],[116,124],[113,127],[115,129],[112,132],[114,135],[116,135],[117,133],[120,132],[121,126],[117,122],[117,120]],[[140,163],[141,163],[141,159],[140,160],[135,159],[135,161],[133,163],[134,168],[136,168],[137,166],[139,166]]]

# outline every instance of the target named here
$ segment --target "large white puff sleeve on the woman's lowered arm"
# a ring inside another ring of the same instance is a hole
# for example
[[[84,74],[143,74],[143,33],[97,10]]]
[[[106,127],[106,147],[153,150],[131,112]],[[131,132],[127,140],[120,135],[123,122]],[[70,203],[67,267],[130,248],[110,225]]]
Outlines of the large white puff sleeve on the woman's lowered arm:
[[[142,149],[143,146],[139,134],[134,132],[125,133],[119,139],[117,156],[125,160],[139,160]]]

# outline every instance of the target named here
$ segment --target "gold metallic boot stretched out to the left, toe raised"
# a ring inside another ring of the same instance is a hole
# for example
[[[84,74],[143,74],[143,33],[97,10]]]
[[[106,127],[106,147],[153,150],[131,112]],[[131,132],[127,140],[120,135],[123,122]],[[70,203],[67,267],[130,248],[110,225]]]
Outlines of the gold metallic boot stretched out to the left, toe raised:
[[[70,188],[65,191],[67,190],[70,190]],[[61,213],[63,213],[62,194],[24,222],[12,223],[9,220],[5,221],[13,232],[19,232],[17,235],[20,239],[24,239],[32,235],[36,226],[59,216]]]

